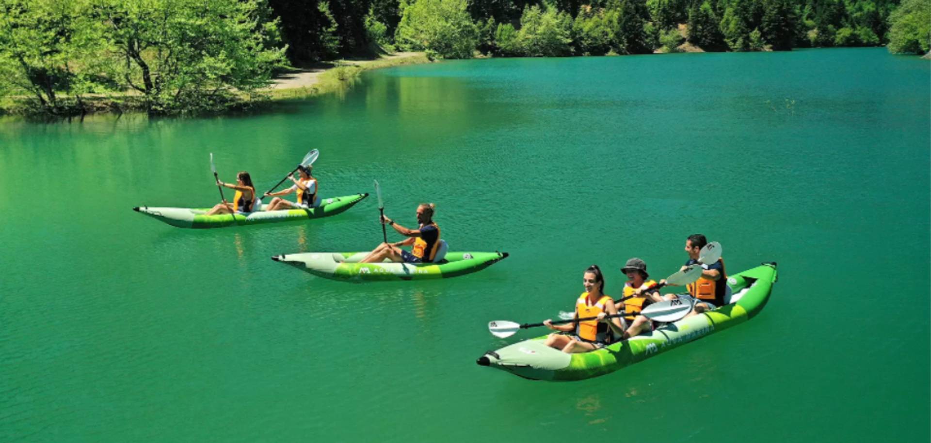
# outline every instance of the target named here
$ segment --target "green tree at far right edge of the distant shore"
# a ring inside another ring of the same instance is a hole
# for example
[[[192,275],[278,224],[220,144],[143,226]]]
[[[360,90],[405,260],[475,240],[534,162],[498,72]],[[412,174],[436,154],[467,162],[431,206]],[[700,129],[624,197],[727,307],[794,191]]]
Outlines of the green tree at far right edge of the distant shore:
[[[889,15],[889,52],[924,54],[931,49],[931,5],[904,0]]]

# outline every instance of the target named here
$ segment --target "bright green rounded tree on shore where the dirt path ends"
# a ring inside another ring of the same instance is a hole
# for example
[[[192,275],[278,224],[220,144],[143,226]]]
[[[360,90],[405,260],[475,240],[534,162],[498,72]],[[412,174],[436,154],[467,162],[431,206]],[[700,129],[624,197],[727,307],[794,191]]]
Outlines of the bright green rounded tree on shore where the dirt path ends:
[[[446,59],[471,58],[479,29],[466,7],[466,0],[415,0],[403,8],[395,42]]]

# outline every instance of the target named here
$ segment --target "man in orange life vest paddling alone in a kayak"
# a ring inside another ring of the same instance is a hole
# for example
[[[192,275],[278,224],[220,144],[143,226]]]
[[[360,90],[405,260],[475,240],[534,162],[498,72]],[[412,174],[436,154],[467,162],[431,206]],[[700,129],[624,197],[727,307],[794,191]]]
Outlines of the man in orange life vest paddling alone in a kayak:
[[[385,258],[398,263],[433,263],[439,249],[439,226],[433,221],[435,210],[436,205],[433,203],[422,203],[417,206],[418,227],[416,229],[404,228],[382,215],[382,224],[395,228],[398,234],[408,239],[394,243],[382,243],[359,263],[379,263],[385,261]],[[413,245],[411,252],[399,247],[408,245]]]

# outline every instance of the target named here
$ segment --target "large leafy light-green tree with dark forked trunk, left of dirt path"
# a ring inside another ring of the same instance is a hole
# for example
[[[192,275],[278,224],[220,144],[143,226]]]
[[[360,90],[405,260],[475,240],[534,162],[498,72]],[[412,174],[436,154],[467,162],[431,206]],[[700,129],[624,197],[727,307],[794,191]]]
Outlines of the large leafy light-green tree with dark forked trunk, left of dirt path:
[[[260,0],[97,0],[119,59],[114,75],[149,111],[196,111],[271,82],[284,63]]]

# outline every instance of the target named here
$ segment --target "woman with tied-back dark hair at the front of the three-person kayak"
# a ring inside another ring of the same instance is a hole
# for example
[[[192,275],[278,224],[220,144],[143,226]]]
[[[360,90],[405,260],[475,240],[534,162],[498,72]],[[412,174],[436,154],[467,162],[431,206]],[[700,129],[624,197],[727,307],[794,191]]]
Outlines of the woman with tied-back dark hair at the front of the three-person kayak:
[[[592,265],[585,270],[582,277],[582,286],[586,292],[579,295],[575,301],[574,319],[597,317],[598,319],[578,321],[564,325],[555,325],[551,319],[543,324],[547,328],[559,332],[573,332],[573,335],[554,332],[546,337],[546,345],[562,350],[567,354],[593,351],[600,349],[611,342],[611,329],[615,333],[624,333],[624,326],[620,319],[605,319],[607,315],[617,315],[617,307],[611,295],[604,294],[604,277],[601,269]]]

